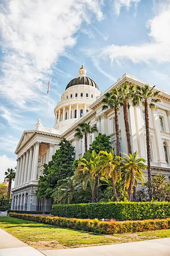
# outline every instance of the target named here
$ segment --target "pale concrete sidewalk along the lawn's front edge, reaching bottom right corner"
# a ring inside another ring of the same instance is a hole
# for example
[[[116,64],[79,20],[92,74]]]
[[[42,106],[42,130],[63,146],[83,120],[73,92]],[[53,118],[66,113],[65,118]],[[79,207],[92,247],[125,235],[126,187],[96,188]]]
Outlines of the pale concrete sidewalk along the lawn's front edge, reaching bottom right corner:
[[[170,238],[42,252],[46,256],[170,256]]]

